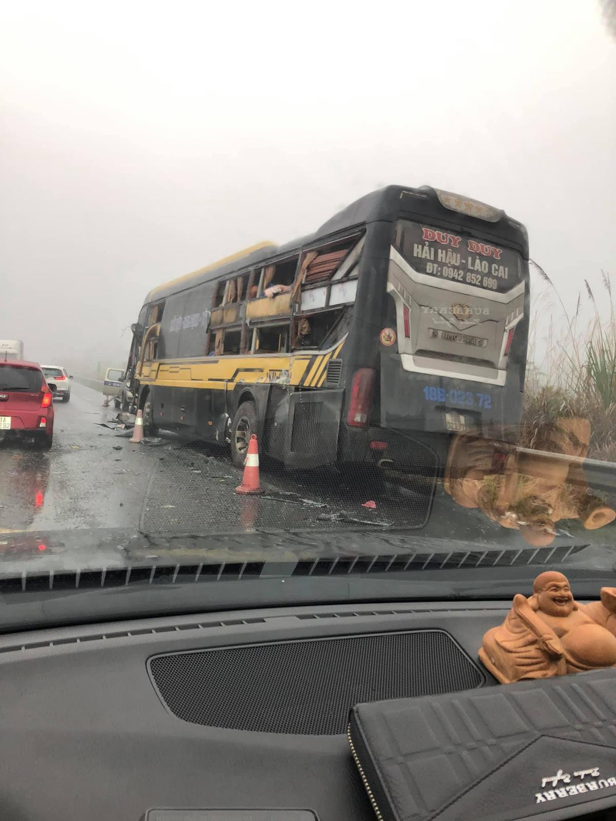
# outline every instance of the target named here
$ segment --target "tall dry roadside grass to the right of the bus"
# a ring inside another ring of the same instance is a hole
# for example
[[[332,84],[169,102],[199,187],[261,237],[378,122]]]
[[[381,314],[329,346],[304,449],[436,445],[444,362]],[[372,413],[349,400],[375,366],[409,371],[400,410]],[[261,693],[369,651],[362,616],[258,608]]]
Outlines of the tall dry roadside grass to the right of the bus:
[[[545,430],[559,416],[583,417],[591,423],[588,456],[616,462],[616,315],[608,273],[601,272],[601,296],[609,310],[602,319],[588,281],[585,299],[592,316],[582,323],[582,293],[576,310],[568,312],[554,283],[533,263],[547,289],[536,300],[531,316],[526,386],[522,406],[522,444],[542,449]],[[564,323],[553,323],[554,300]],[[545,317],[549,316],[547,328]],[[545,333],[546,350],[539,354],[539,336]],[[540,367],[537,365],[541,361]]]

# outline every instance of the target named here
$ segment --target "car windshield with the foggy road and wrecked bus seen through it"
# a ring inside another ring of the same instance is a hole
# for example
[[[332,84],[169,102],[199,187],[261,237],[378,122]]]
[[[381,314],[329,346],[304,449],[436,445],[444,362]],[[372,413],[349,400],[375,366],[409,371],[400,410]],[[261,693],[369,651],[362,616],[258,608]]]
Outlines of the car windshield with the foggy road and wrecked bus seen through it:
[[[613,584],[614,5],[565,5],[3,9],[0,578]]]

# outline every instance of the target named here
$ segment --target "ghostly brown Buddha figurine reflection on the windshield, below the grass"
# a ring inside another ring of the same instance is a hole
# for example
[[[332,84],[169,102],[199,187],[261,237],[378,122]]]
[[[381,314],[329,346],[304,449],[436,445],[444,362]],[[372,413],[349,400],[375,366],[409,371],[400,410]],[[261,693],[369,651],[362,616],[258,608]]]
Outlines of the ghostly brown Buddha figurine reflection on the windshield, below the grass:
[[[614,521],[616,511],[588,488],[583,459],[590,436],[585,419],[546,424],[540,437],[545,450],[536,452],[457,434],[444,488],[461,507],[479,508],[535,547],[554,541],[561,519],[579,519],[596,530]]]

